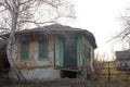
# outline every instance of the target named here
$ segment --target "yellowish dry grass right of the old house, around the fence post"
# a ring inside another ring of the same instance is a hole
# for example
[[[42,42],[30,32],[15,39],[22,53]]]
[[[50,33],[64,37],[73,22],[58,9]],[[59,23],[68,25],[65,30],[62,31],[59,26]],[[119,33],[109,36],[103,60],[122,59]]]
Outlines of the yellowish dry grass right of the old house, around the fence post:
[[[102,74],[95,75],[96,80],[87,82],[88,87],[130,87],[130,75],[126,72],[110,67],[110,79],[108,80],[108,69],[104,67]],[[95,79],[93,78],[93,79]]]

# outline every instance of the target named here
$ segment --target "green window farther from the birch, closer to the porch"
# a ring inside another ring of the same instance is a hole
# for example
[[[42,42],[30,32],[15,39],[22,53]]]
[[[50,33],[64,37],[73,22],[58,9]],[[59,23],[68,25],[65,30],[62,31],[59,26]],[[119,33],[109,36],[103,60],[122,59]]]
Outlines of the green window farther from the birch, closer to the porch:
[[[39,59],[48,59],[49,49],[48,49],[48,40],[39,41]]]

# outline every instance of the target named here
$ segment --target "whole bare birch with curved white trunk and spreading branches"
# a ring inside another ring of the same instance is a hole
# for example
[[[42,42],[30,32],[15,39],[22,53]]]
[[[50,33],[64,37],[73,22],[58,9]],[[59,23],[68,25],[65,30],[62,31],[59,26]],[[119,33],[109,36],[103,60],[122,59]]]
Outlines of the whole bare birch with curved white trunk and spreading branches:
[[[60,23],[61,18],[75,17],[73,5],[66,0],[0,0],[1,33],[9,33],[6,54],[12,71],[21,83],[26,78],[14,63],[15,32],[47,23]],[[48,16],[47,16],[48,15]]]

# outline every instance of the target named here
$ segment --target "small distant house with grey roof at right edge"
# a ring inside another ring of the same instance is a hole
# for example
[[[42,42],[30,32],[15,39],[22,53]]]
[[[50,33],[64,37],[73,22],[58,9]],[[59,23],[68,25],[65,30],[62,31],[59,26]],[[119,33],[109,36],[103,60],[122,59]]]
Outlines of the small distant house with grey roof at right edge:
[[[130,50],[116,51],[116,61],[120,70],[130,70]]]

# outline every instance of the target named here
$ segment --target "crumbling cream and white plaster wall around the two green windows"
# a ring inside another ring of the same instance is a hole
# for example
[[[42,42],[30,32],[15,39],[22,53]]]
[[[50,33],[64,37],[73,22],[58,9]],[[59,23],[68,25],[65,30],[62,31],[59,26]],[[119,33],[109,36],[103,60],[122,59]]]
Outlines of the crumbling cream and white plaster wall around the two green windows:
[[[15,48],[14,61],[18,69],[22,71],[26,79],[35,80],[51,80],[60,78],[60,71],[54,70],[54,51],[53,40],[49,40],[49,58],[39,60],[38,59],[38,40],[29,41],[29,58],[28,60],[21,60],[21,42],[17,41]],[[13,72],[10,72],[10,77],[16,78]]]

